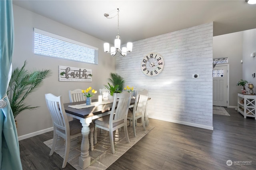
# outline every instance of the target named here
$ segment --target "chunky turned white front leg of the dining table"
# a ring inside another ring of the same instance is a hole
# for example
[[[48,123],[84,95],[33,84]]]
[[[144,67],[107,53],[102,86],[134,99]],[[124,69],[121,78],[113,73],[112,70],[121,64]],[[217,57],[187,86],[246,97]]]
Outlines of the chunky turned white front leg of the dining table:
[[[79,157],[79,166],[82,169],[87,168],[91,164],[91,157],[89,155],[89,133],[90,133],[90,122],[92,122],[91,118],[81,119],[82,124],[82,143],[81,143],[81,155]]]

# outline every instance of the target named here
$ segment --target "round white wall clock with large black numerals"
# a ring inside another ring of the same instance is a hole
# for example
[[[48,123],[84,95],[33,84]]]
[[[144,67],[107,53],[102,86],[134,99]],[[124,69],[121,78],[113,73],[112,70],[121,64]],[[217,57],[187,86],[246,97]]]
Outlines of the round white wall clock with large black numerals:
[[[164,59],[163,57],[156,53],[156,52],[152,52],[147,54],[141,64],[140,64],[141,70],[142,72],[146,75],[146,76],[156,76],[158,75],[164,68]]]

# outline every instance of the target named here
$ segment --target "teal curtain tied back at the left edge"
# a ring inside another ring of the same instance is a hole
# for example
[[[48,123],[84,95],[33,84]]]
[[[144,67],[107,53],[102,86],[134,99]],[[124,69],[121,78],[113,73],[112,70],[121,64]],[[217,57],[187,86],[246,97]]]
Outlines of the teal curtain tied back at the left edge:
[[[12,0],[0,0],[0,169],[22,170],[17,130],[8,97],[14,47]],[[5,106],[7,104],[7,106]]]

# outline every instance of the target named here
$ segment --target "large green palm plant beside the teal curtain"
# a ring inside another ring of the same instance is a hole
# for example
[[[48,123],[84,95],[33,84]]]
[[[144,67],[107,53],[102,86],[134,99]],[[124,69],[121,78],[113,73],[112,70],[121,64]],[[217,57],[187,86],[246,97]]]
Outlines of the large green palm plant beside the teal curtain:
[[[44,78],[47,78],[52,74],[51,70],[34,70],[29,72],[25,68],[26,63],[27,62],[25,61],[22,68],[16,68],[12,72],[7,90],[14,118],[26,109],[33,110],[39,107],[26,105],[24,100],[30,93],[38,90],[43,84]]]

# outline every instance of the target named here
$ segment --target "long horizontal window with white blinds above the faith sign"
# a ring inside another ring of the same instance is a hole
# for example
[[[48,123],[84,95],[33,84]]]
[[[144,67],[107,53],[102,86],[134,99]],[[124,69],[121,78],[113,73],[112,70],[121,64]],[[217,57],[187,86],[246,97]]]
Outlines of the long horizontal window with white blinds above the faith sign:
[[[34,28],[34,54],[98,64],[98,48]]]

